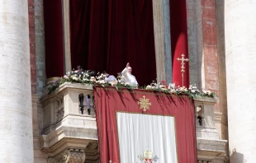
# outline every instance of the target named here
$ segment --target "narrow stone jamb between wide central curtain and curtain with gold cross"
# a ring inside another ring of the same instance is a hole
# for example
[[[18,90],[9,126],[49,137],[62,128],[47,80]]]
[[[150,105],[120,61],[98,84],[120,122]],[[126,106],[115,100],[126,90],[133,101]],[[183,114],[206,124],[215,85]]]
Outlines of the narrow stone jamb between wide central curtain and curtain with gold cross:
[[[169,0],[152,0],[154,49],[158,81],[172,82]]]

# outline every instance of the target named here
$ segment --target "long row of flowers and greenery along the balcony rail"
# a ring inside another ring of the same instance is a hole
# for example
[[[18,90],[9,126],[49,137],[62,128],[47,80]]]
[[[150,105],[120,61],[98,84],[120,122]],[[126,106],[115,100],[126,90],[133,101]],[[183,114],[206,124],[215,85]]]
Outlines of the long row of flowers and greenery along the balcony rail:
[[[48,94],[55,91],[60,85],[64,82],[75,82],[81,84],[88,84],[92,86],[114,86],[116,90],[126,88],[129,90],[138,88],[137,86],[130,86],[128,83],[125,83],[124,78],[119,74],[117,77],[110,77],[107,72],[102,72],[97,74],[95,72],[91,72],[88,70],[83,70],[78,67],[78,70],[73,70],[71,72],[67,72],[64,77],[61,77],[58,81],[51,83]],[[206,89],[201,89],[201,91],[197,88],[196,85],[190,85],[188,88],[185,86],[175,86],[175,83],[166,84],[166,81],[156,82],[152,81],[149,86],[139,87],[139,89],[145,89],[148,91],[159,91],[167,94],[175,94],[175,95],[188,95],[192,99],[196,96],[206,96],[215,98],[216,93],[207,91]]]

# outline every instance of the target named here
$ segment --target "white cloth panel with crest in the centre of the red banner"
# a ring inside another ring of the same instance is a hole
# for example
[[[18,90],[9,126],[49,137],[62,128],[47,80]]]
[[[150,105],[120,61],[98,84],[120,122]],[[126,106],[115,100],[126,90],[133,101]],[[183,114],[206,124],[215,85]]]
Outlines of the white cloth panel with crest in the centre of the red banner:
[[[120,162],[177,163],[174,123],[172,116],[116,112]],[[146,161],[146,149],[159,159]]]

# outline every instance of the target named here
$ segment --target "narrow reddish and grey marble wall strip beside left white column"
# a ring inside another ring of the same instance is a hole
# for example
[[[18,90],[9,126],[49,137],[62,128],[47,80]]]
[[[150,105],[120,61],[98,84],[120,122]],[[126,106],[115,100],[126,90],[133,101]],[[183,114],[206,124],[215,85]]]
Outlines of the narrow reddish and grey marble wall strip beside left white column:
[[[47,155],[41,151],[39,137],[43,128],[43,114],[39,98],[45,87],[45,27],[43,0],[28,0],[31,40],[31,87],[33,110],[34,161],[46,163]]]

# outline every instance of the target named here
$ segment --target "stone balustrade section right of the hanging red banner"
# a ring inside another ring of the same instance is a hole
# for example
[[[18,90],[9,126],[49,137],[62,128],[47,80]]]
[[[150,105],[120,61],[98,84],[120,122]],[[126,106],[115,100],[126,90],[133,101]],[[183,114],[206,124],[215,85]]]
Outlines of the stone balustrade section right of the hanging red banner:
[[[208,97],[198,97],[194,100],[197,159],[201,163],[224,162],[226,140],[219,138],[215,127],[214,105],[216,100]]]

